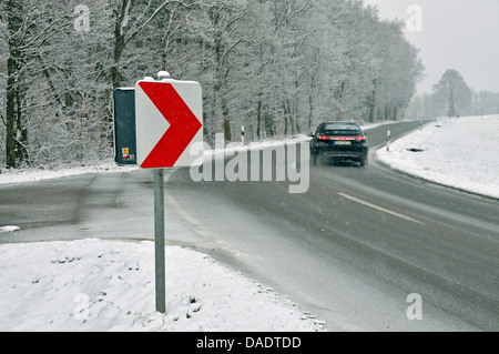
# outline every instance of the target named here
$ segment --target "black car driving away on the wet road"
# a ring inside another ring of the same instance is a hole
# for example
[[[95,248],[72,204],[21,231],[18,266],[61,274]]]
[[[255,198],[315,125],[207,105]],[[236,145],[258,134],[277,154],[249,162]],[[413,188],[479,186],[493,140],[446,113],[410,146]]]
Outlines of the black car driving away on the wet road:
[[[367,164],[367,138],[355,122],[324,122],[315,134],[308,133],[308,136],[312,136],[310,158],[314,164],[317,164],[317,159],[353,161],[361,166]]]

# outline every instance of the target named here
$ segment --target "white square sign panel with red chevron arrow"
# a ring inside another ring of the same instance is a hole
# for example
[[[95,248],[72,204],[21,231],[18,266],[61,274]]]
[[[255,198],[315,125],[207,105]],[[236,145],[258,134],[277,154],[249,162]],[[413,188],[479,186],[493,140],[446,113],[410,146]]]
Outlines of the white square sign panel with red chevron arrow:
[[[138,164],[142,169],[190,166],[203,141],[201,85],[194,81],[139,81],[135,84]]]

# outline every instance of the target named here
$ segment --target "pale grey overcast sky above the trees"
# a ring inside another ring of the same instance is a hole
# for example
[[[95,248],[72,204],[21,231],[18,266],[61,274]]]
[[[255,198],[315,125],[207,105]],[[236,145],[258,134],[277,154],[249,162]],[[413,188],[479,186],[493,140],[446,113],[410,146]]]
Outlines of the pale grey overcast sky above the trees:
[[[458,70],[476,91],[499,92],[499,0],[364,1],[377,6],[381,18],[408,23],[406,37],[426,67],[418,93],[431,92],[447,69]]]

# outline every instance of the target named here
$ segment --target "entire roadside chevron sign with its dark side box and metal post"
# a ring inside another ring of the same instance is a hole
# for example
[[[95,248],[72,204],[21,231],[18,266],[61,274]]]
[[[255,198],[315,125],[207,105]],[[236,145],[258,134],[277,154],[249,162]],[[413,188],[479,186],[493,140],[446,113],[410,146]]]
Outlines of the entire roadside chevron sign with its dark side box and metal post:
[[[114,100],[115,138],[135,143],[133,149],[119,146],[115,139],[116,164],[134,163],[154,174],[155,309],[165,313],[164,169],[193,166],[200,161],[203,152],[192,154],[191,148],[203,142],[202,89],[195,81],[174,80],[160,71],[157,80],[145,78],[133,89],[116,90]]]

